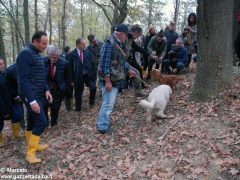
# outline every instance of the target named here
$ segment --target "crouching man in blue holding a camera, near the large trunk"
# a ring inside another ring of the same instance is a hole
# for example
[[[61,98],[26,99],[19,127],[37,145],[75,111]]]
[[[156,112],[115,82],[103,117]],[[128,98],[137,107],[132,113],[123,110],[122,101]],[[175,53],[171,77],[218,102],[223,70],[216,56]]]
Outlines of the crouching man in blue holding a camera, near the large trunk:
[[[168,53],[168,59],[163,61],[163,66],[168,74],[172,74],[173,69],[177,69],[177,73],[180,73],[187,63],[187,51],[183,47],[183,41],[181,38],[176,40],[176,45],[172,45],[171,51]]]

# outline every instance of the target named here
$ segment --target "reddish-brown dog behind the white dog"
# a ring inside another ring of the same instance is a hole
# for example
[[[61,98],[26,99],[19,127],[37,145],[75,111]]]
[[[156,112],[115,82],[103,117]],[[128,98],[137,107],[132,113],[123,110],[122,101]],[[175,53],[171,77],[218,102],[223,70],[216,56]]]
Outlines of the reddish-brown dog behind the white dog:
[[[183,77],[179,77],[176,75],[162,75],[160,70],[154,69],[151,71],[151,76],[154,80],[158,80],[159,84],[167,84],[172,89],[177,87],[177,83],[183,80]]]

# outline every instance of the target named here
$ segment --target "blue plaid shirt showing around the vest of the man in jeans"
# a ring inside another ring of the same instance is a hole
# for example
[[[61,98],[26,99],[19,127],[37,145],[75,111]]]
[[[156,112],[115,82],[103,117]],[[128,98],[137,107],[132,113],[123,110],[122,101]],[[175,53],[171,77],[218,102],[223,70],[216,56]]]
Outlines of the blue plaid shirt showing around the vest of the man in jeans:
[[[114,36],[114,35],[113,35]],[[122,43],[114,36],[114,40],[117,41],[120,47],[122,47]],[[113,60],[113,53],[115,52],[115,48],[113,45],[107,41],[104,43],[100,53],[100,62],[99,62],[99,71],[103,77],[100,77],[100,84],[105,85],[104,76],[110,76],[111,74],[111,62]],[[129,65],[125,61],[124,62],[124,71],[129,71]],[[127,87],[127,82],[125,79],[112,82],[112,86],[118,89],[125,89]]]

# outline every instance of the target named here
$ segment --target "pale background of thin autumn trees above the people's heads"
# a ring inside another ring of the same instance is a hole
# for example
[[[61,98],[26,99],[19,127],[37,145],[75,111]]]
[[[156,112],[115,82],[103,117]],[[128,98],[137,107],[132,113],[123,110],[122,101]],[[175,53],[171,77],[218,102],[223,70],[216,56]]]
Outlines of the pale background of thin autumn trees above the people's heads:
[[[1,0],[0,56],[12,64],[36,30],[49,35],[49,44],[75,47],[78,36],[94,33],[104,40],[119,23],[139,24],[145,30],[155,25],[164,29],[170,20],[177,31],[186,26],[187,16],[196,11],[196,0],[174,0],[175,9],[166,10],[166,0]],[[164,10],[165,9],[165,10]],[[145,33],[144,33],[145,34]]]

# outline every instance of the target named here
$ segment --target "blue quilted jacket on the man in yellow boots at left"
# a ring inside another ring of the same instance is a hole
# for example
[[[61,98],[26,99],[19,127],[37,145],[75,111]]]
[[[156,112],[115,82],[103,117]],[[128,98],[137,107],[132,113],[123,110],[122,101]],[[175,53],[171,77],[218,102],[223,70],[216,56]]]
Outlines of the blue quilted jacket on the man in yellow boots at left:
[[[47,74],[39,51],[29,44],[17,57],[19,95],[28,103],[42,99],[48,90]]]

